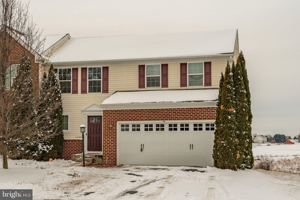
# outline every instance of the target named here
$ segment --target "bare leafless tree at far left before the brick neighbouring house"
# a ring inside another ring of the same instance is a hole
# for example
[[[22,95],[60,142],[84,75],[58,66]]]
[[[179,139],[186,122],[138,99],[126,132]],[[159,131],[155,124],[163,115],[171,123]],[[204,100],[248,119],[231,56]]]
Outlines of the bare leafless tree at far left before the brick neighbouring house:
[[[44,39],[29,17],[28,5],[0,0],[0,23],[0,155],[7,169],[7,157],[57,133],[61,127],[51,115],[61,102],[45,104],[60,88],[39,80]]]

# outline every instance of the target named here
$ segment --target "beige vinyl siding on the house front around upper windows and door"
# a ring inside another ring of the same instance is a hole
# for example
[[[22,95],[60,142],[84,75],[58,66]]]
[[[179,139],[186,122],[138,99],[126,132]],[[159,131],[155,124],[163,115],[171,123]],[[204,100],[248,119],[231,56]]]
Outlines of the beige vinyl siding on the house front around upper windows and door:
[[[81,133],[79,126],[83,124],[82,109],[90,106],[92,103],[100,105],[115,91],[134,91],[134,90],[168,90],[168,89],[192,89],[192,88],[218,88],[221,72],[225,71],[227,59],[219,58],[211,60],[211,86],[199,87],[180,87],[180,63],[189,61],[166,62],[162,61],[159,64],[168,63],[168,88],[139,88],[139,64],[149,63],[125,63],[125,64],[95,64],[95,65],[66,65],[58,68],[77,68],[78,67],[78,94],[62,94],[63,112],[71,113],[70,133],[65,133],[65,139],[76,139]],[[203,62],[210,60],[203,60]],[[194,61],[192,61],[194,62]],[[201,61],[202,62],[202,61]],[[157,64],[157,62],[155,62]],[[81,93],[81,67],[109,67],[109,93]],[[87,124],[86,124],[87,125]],[[77,138],[78,139],[78,138]]]

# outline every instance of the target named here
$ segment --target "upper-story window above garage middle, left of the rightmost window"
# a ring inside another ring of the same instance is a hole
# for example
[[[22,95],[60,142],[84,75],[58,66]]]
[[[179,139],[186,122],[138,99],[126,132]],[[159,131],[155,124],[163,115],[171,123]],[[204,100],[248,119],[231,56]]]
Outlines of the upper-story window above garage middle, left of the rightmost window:
[[[161,87],[161,65],[146,65],[146,87]]]

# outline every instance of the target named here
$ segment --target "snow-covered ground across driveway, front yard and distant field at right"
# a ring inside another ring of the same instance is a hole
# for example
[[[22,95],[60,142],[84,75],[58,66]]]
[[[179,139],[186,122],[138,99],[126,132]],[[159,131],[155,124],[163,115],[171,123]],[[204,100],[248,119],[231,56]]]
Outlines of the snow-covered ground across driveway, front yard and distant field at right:
[[[272,147],[253,148],[253,154],[300,154],[300,145]],[[8,167],[0,169],[0,189],[32,189],[33,199],[299,199],[300,175],[264,170],[83,168],[66,160],[9,160]]]

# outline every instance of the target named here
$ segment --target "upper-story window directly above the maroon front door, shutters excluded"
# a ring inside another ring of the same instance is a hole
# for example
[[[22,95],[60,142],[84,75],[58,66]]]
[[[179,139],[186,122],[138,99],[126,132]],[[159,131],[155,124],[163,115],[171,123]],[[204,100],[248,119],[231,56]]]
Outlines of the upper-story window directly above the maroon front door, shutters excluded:
[[[101,92],[101,67],[88,67],[88,93]]]

